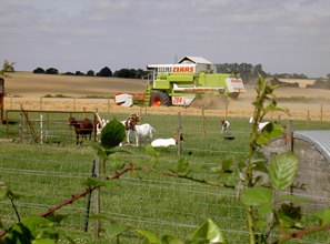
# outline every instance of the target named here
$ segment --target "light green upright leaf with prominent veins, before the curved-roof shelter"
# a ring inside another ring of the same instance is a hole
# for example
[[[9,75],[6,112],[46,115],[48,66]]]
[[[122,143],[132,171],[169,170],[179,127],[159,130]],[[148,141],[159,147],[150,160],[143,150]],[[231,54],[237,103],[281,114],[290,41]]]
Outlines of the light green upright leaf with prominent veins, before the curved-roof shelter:
[[[277,154],[269,166],[269,181],[277,191],[288,189],[298,173],[299,161],[291,152]]]

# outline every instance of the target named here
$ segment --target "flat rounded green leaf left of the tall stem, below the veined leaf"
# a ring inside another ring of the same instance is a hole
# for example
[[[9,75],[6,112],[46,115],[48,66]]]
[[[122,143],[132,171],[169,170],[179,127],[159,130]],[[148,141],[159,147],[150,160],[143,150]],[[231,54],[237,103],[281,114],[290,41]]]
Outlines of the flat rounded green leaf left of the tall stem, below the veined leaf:
[[[247,206],[260,206],[270,203],[272,191],[262,186],[244,189],[241,195],[241,202]]]

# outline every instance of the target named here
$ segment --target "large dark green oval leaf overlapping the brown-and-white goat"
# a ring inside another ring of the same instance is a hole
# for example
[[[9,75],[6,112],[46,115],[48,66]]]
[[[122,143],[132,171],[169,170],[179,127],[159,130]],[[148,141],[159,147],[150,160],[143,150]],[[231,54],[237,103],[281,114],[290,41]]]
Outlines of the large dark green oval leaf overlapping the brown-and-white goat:
[[[101,132],[101,145],[104,149],[118,146],[126,138],[123,124],[117,119],[112,119]]]

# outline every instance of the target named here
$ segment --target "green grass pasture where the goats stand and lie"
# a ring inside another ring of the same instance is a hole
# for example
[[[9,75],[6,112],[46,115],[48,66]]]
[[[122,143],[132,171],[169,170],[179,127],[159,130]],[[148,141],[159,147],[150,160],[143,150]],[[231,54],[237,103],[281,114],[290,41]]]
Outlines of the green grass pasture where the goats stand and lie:
[[[47,212],[71,195],[82,192],[86,187],[83,182],[91,175],[92,162],[97,156],[86,142],[76,145],[74,132],[67,124],[68,114],[43,114],[49,120],[42,124],[42,144],[32,140],[29,129],[21,128],[19,113],[12,112],[9,115],[11,124],[0,125],[0,139],[7,139],[6,142],[0,142],[0,182],[8,184],[18,194],[14,203],[20,216],[23,218]],[[83,114],[73,115],[81,118]],[[124,120],[127,114],[104,113],[101,116]],[[30,113],[29,118],[31,121],[33,118],[38,120],[40,114]],[[109,240],[106,234],[107,226],[113,223],[129,227],[120,236],[120,243],[140,243],[141,237],[136,234],[134,228],[147,228],[159,235],[173,234],[183,238],[207,218],[213,220],[223,230],[228,243],[247,243],[244,210],[237,201],[237,191],[231,187],[237,185],[238,175],[214,171],[221,166],[223,160],[233,157],[234,172],[236,165],[239,161],[244,161],[248,152],[251,130],[248,118],[229,120],[229,133],[234,140],[226,140],[221,134],[220,118],[142,114],[142,122],[156,128],[154,139],[170,138],[181,125],[181,156],[189,162],[189,175],[218,186],[162,173],[176,170],[179,159],[176,146],[157,149],[160,153],[158,159],[146,152],[144,145],[149,141],[142,142],[139,148],[123,146],[126,152],[113,154],[108,160],[106,174],[112,175],[130,163],[141,170],[109,181],[101,189],[102,238],[97,243],[114,243],[116,240]],[[281,121],[283,125],[288,122]],[[36,134],[40,136],[40,121],[33,124]],[[293,121],[294,130],[329,128],[329,123],[320,121]],[[91,201],[92,213],[94,194]],[[9,227],[17,222],[17,217],[10,201],[1,199],[0,204],[1,221]],[[89,231],[83,232],[86,210],[87,197],[82,197],[57,212],[68,215],[59,230],[78,243],[91,243],[93,240],[93,220],[89,221]],[[306,223],[313,224],[314,218],[307,215]],[[313,234],[309,238],[326,243],[329,236]]]

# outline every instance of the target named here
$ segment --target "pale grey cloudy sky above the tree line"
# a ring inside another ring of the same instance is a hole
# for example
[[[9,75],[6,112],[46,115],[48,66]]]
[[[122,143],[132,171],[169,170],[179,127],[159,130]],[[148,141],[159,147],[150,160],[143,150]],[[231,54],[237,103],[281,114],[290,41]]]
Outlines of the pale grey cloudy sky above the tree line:
[[[329,0],[1,0],[0,16],[0,62],[17,71],[146,70],[194,55],[330,73]]]

